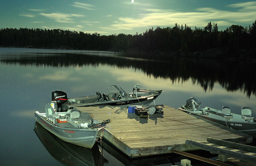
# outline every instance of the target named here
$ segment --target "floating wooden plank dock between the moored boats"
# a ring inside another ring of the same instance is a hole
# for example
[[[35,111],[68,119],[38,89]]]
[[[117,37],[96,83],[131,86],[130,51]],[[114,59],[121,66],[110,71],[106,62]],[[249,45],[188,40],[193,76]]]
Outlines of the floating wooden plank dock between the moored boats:
[[[186,140],[197,142],[207,138],[246,144],[252,136],[188,113],[163,105],[163,114],[140,118],[128,113],[128,107],[76,107],[99,120],[110,119],[104,130],[104,139],[129,157],[160,155],[180,151],[199,150],[186,145]]]

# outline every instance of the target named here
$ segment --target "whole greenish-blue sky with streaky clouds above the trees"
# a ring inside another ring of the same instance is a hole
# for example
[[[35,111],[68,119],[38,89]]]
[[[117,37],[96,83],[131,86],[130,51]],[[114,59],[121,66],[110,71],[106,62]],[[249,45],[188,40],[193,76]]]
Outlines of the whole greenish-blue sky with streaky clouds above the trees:
[[[62,29],[84,33],[143,34],[147,29],[217,23],[252,25],[256,1],[246,0],[1,0],[1,28]]]

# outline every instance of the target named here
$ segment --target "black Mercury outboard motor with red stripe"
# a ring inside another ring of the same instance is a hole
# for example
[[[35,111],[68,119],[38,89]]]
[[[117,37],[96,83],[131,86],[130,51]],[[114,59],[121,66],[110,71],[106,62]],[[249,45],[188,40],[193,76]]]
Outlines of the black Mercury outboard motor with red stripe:
[[[63,112],[67,110],[65,103],[68,102],[67,93],[63,91],[52,92],[52,101],[57,102],[58,112]]]

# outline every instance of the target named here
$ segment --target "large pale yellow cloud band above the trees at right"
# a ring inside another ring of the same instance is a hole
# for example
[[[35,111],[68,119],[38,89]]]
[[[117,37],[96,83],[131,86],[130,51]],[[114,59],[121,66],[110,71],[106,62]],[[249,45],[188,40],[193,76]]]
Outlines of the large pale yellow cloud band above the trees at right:
[[[147,8],[144,9],[144,13],[138,14],[137,18],[119,17],[110,26],[100,28],[104,30],[132,30],[151,26],[168,26],[175,23],[203,28],[210,21],[218,23],[218,26],[230,26],[237,24],[237,22],[248,23],[255,20],[256,2],[231,4],[227,7],[240,9],[230,11],[229,9],[198,8],[194,12],[178,12]]]

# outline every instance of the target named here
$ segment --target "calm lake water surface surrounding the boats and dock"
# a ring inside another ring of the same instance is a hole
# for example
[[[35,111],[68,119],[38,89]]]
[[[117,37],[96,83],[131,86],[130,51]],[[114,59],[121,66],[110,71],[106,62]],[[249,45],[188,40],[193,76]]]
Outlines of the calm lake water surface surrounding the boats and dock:
[[[34,111],[44,111],[44,105],[51,101],[55,90],[65,91],[71,98],[95,95],[97,90],[107,93],[109,85],[132,92],[133,86],[140,84],[144,89],[163,89],[156,104],[178,108],[188,98],[195,97],[202,106],[219,109],[229,106],[236,113],[241,112],[242,106],[249,106],[256,116],[256,63],[251,61],[0,48],[0,77],[0,165],[63,165],[61,161],[76,165],[81,162],[77,159],[80,155],[98,161],[88,162],[88,165],[171,165],[164,159],[130,161],[118,155],[118,151],[108,151],[108,145],[103,145],[103,149],[97,146],[94,150],[77,149],[72,145],[63,149],[65,142],[40,127],[34,131],[38,125]]]

